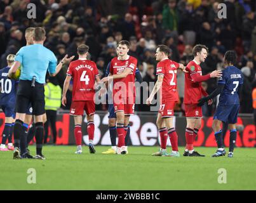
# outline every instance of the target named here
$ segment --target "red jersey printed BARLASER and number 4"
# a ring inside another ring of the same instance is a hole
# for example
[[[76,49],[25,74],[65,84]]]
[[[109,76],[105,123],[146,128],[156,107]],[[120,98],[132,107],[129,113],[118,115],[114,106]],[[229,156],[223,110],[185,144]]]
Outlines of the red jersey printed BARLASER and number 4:
[[[67,75],[73,79],[73,101],[93,100],[95,95],[95,77],[98,69],[95,62],[91,60],[76,60],[69,64]]]

